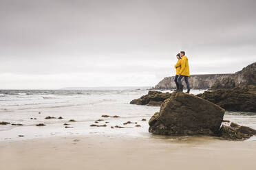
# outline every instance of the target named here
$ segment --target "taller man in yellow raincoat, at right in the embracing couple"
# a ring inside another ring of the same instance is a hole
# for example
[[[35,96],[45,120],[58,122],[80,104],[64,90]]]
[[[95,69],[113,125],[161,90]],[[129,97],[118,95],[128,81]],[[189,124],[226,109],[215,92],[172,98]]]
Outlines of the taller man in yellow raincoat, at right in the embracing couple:
[[[190,87],[189,87],[189,59],[185,56],[184,51],[180,51],[180,57],[182,58],[181,60],[181,69],[179,72],[179,77],[178,77],[178,86],[179,86],[179,91],[183,91],[183,85],[182,85],[182,78],[184,77],[184,80],[186,82],[186,88],[187,91],[186,93],[190,92]]]

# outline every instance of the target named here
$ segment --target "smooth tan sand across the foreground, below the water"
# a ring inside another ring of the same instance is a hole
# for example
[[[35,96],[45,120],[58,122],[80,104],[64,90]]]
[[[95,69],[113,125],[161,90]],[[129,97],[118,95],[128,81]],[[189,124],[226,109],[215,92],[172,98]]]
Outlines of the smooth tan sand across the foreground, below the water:
[[[0,142],[0,169],[255,169],[256,141],[63,136]]]

